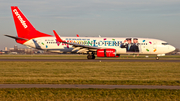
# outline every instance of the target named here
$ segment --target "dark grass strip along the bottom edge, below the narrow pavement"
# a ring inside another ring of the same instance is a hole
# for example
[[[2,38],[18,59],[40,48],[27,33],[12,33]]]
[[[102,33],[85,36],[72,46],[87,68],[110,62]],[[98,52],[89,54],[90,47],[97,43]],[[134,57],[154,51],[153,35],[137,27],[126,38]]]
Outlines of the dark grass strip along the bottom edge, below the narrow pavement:
[[[51,88],[0,89],[0,99],[2,101],[178,101],[180,99],[180,90]]]

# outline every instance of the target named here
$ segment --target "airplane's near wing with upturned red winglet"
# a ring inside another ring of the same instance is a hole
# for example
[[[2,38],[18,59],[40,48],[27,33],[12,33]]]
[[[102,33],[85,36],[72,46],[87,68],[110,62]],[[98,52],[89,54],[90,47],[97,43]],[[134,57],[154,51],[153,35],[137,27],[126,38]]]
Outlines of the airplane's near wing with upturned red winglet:
[[[62,43],[72,45],[72,47],[74,48],[72,51],[78,50],[77,53],[87,53],[88,51],[93,52],[93,51],[97,51],[97,49],[100,49],[99,47],[93,47],[93,46],[81,45],[81,44],[77,44],[77,43],[65,42],[59,37],[59,35],[56,33],[55,30],[53,30],[53,32],[54,32],[54,35],[55,35],[56,40],[58,42],[62,42]]]

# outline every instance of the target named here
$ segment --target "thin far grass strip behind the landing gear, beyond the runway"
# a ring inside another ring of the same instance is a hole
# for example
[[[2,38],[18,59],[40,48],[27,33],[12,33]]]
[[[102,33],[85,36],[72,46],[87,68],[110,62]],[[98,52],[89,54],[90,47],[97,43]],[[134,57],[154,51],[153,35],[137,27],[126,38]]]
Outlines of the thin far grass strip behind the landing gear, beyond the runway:
[[[146,55],[140,55],[133,57],[133,55],[121,55],[119,58],[101,58],[96,59],[155,59],[156,55],[148,55],[149,58],[145,58]],[[87,59],[87,55],[78,54],[56,54],[56,55],[0,55],[0,59]],[[180,59],[180,55],[166,55],[160,57],[160,59]]]

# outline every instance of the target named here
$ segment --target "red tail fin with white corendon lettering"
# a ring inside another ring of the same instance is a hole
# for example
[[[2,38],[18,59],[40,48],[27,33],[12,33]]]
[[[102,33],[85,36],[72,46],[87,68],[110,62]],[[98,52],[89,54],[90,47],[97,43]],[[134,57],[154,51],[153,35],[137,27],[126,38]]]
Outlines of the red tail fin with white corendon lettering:
[[[17,6],[11,6],[18,37],[32,39],[51,36],[37,31]]]

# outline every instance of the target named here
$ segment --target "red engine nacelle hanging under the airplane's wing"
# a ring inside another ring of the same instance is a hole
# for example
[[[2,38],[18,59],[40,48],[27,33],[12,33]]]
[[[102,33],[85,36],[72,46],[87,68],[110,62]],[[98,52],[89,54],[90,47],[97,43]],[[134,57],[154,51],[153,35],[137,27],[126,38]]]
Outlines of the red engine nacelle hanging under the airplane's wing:
[[[119,57],[115,49],[97,49],[97,57]]]

